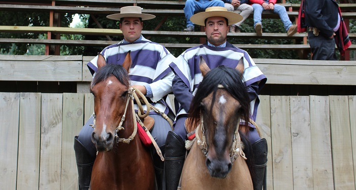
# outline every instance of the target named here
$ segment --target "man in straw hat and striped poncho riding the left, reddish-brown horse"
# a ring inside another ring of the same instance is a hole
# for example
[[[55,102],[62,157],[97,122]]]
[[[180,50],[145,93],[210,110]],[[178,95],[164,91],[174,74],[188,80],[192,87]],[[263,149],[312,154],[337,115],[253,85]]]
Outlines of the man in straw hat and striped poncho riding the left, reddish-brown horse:
[[[170,108],[164,101],[164,97],[172,91],[171,84],[174,74],[169,69],[169,64],[175,57],[164,46],[151,42],[141,35],[142,20],[155,17],[155,15],[142,13],[141,8],[137,6],[123,7],[120,9],[120,13],[108,15],[107,18],[109,19],[120,20],[119,26],[124,39],[105,47],[100,53],[104,56],[106,63],[122,65],[126,54],[131,51],[133,63],[129,73],[131,85],[140,90],[158,110],[170,116]],[[98,56],[87,64],[93,75],[98,69],[97,61]],[[134,106],[137,110],[137,104]],[[145,105],[143,105],[143,108],[146,110]],[[165,139],[171,127],[161,115],[151,112],[150,116],[155,120],[151,134],[164,153]],[[91,140],[93,128],[90,124],[93,124],[93,117],[83,126],[74,139],[80,189],[88,189],[90,185],[91,171],[97,152]],[[154,153],[153,157],[156,177],[160,178],[160,172],[163,172],[163,161],[157,153]],[[161,182],[158,182],[158,184],[161,184]]]

